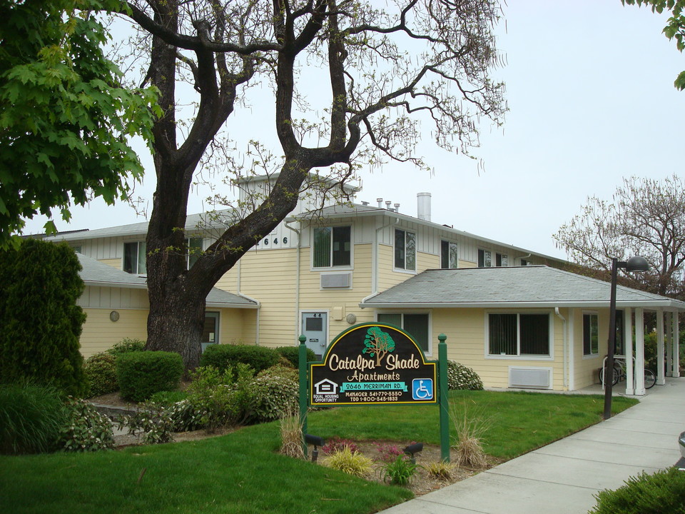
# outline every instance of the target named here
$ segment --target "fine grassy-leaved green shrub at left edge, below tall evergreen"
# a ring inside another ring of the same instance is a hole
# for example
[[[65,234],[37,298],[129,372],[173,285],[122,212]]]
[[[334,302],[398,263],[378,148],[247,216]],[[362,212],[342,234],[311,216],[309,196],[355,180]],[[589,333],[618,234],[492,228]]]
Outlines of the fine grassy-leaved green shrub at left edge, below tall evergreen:
[[[49,452],[66,425],[59,390],[29,382],[0,384],[0,453]]]

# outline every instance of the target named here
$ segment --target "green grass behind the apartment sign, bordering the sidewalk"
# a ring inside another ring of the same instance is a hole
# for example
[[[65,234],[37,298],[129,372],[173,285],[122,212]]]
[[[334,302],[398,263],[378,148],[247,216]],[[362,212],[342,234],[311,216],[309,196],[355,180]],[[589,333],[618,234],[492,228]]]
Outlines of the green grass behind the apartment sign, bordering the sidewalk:
[[[616,397],[612,412],[637,403]],[[489,418],[484,450],[494,457],[514,458],[593,425],[602,419],[604,397],[546,393],[450,392],[450,408]],[[440,443],[440,415],[434,405],[350,407],[308,416],[308,432],[323,438],[420,441]],[[454,427],[450,423],[450,435]]]

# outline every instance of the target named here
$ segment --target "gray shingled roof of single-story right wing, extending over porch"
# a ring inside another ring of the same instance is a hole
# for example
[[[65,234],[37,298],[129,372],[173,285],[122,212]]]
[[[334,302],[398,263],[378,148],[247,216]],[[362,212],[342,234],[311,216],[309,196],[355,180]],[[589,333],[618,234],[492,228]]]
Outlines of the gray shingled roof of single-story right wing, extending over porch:
[[[548,266],[428,270],[360,303],[360,307],[609,307],[608,282]],[[670,308],[685,303],[617,287],[617,306]]]

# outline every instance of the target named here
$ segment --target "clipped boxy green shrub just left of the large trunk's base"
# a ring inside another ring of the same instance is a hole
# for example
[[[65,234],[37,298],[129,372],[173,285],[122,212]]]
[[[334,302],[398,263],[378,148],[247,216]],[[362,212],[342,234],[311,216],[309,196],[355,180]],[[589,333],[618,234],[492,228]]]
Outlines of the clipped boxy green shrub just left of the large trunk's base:
[[[116,358],[116,378],[126,400],[141,402],[158,391],[177,389],[182,375],[183,360],[178,353],[142,351],[121,353]]]

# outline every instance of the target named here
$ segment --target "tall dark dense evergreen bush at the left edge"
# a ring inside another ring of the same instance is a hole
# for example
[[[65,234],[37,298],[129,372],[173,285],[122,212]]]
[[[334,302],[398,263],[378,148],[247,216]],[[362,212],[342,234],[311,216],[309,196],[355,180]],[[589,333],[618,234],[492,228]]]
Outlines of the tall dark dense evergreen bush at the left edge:
[[[81,263],[66,243],[25,239],[0,251],[0,380],[85,393]]]

